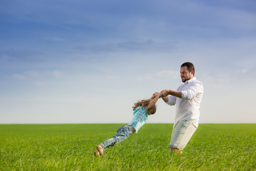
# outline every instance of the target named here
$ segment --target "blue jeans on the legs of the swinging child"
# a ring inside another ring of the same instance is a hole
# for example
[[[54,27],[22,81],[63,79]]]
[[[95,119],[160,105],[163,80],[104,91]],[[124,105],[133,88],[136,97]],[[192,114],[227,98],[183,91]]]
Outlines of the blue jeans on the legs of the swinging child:
[[[108,147],[114,146],[119,142],[127,139],[129,135],[132,135],[132,129],[129,128],[128,125],[124,125],[117,130],[117,133],[114,135],[113,138],[109,140],[105,140],[105,142],[100,143],[103,149],[107,149]]]

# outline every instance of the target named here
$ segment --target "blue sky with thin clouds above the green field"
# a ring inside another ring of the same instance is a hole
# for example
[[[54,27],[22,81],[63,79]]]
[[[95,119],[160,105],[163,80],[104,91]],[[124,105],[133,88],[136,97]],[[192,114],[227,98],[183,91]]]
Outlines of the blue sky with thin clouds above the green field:
[[[255,1],[2,1],[0,123],[129,123],[132,105],[203,83],[200,123],[256,123]],[[149,123],[173,123],[157,103]]]

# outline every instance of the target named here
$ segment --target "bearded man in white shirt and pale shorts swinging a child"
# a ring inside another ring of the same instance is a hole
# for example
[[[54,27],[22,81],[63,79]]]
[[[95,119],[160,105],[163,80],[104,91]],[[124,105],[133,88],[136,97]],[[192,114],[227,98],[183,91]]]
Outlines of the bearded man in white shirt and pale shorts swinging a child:
[[[203,84],[196,80],[193,63],[181,65],[181,81],[177,90],[162,90],[161,98],[168,105],[176,105],[176,117],[171,133],[171,152],[182,153],[198,128],[199,108],[203,97]],[[156,95],[157,93],[154,93]]]

